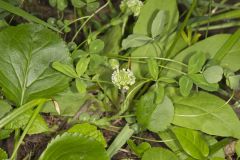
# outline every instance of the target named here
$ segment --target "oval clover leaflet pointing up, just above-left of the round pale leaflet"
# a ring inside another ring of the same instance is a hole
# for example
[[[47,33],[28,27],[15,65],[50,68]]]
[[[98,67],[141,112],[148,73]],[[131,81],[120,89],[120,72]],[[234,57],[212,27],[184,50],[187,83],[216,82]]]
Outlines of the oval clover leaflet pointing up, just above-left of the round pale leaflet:
[[[204,53],[198,52],[192,55],[188,62],[188,74],[194,74],[201,71],[205,62],[206,56]]]

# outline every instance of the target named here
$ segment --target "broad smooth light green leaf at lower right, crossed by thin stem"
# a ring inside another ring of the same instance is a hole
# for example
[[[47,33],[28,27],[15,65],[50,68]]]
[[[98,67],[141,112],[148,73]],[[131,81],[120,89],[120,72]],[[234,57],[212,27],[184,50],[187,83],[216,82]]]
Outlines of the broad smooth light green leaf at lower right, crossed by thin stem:
[[[217,96],[198,92],[191,97],[172,97],[173,124],[207,134],[240,138],[240,122],[231,106]]]

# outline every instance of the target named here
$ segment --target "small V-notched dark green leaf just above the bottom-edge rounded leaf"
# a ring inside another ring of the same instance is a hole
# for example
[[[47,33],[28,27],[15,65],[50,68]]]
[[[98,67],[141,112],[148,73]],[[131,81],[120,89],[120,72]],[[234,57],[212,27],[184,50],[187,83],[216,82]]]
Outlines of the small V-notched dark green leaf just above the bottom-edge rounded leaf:
[[[127,141],[130,149],[138,156],[141,157],[145,151],[151,148],[151,145],[147,142],[142,142],[139,145],[136,145],[133,140],[129,139]]]

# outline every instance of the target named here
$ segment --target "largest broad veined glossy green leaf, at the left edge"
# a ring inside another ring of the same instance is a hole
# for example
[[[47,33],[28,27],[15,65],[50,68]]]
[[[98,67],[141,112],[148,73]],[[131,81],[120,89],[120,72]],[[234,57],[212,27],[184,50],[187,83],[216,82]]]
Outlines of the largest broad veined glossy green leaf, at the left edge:
[[[17,106],[67,88],[68,78],[51,68],[54,61],[71,63],[67,47],[54,32],[33,24],[0,32],[0,86]]]

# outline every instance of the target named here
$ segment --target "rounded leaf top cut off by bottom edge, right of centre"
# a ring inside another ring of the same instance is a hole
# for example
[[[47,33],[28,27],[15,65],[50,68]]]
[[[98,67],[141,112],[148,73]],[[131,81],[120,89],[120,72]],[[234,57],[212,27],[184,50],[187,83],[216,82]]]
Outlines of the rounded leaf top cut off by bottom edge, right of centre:
[[[178,157],[171,151],[160,147],[153,147],[147,150],[142,157],[142,160],[178,160]]]

